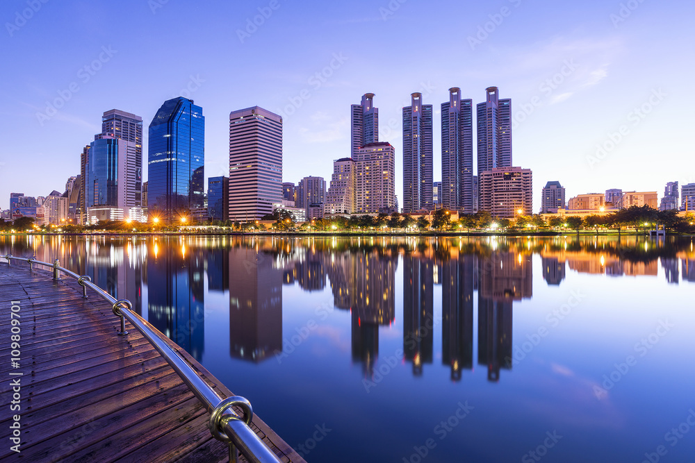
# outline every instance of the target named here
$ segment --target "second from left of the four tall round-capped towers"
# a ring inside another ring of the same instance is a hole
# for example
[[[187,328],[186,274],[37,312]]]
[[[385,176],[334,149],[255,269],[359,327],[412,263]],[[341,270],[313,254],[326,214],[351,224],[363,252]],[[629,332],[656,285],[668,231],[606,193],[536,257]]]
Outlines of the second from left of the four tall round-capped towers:
[[[403,108],[403,212],[432,207],[432,105],[413,93]]]

